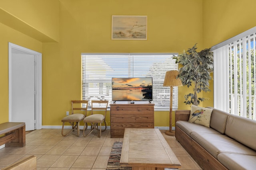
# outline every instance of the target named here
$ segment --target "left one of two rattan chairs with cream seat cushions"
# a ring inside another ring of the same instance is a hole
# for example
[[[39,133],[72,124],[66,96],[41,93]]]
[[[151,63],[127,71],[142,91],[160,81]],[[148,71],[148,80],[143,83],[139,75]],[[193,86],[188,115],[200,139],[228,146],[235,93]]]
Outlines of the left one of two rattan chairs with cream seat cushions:
[[[79,132],[80,132],[79,124],[80,124],[80,121],[82,121],[84,119],[84,117],[86,117],[88,101],[87,100],[72,100],[71,105],[72,105],[72,114],[64,117],[61,120],[63,122],[62,123],[61,135],[65,137],[68,134],[70,134],[72,131],[77,129],[77,136],[79,137]],[[84,113],[74,113],[75,110],[80,110]],[[64,134],[64,124],[66,122],[68,122],[68,123],[70,123],[70,125],[72,125],[72,129],[70,131],[68,131],[67,134]]]

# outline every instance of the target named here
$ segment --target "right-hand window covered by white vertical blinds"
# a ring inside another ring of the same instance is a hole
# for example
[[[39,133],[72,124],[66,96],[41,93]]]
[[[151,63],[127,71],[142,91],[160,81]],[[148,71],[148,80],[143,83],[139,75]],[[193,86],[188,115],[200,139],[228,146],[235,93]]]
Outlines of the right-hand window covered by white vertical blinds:
[[[212,47],[214,107],[256,119],[256,27]]]

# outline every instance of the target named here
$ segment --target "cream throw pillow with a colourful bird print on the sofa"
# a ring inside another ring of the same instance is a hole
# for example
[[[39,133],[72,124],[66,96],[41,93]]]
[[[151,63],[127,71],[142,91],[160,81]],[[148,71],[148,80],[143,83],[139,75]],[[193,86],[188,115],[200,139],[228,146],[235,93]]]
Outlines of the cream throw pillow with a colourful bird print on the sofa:
[[[189,122],[210,127],[212,109],[199,106],[191,106]]]

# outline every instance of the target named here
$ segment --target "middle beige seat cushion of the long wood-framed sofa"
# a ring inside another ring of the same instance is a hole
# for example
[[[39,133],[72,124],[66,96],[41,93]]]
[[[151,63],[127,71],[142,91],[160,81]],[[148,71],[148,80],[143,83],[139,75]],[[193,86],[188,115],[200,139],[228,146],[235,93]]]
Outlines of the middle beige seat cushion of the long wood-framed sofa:
[[[223,134],[193,131],[190,137],[215,158],[217,158],[218,154],[221,152],[256,156],[256,151]]]

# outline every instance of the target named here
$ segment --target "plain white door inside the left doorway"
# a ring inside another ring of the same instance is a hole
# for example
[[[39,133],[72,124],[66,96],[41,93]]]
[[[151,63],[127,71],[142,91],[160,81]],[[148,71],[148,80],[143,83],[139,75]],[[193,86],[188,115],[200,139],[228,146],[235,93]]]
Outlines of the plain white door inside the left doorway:
[[[26,131],[35,129],[34,62],[34,55],[12,52],[12,121],[25,122]]]

